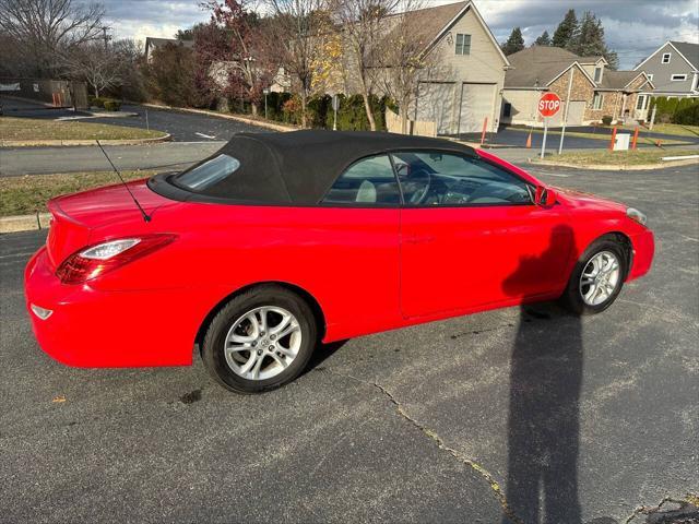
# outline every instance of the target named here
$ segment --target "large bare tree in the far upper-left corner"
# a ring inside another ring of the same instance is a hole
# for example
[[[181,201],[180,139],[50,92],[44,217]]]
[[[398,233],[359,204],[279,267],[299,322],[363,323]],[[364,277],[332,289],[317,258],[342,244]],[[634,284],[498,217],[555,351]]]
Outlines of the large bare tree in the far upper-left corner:
[[[0,0],[0,29],[21,43],[34,74],[56,72],[57,53],[98,39],[104,8],[74,0]]]

